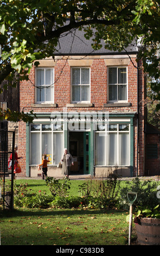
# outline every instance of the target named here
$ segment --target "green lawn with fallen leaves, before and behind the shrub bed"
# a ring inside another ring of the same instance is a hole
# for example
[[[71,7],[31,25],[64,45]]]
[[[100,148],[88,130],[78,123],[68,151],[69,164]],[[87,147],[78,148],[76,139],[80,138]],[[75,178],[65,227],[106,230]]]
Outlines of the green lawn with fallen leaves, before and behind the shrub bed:
[[[49,188],[44,180],[28,183],[33,192]],[[70,194],[78,196],[82,180],[72,180]],[[0,212],[1,245],[127,245],[129,212],[91,209],[14,209]],[[136,239],[136,235],[132,235]]]

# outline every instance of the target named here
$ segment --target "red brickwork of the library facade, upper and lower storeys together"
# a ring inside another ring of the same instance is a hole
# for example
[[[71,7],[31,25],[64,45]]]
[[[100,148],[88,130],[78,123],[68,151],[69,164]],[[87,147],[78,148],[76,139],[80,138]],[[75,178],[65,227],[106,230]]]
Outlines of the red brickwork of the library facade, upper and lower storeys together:
[[[137,66],[136,58],[132,58],[132,62]],[[130,107],[104,107],[107,103],[107,66],[104,59],[93,59],[91,65],[91,103],[94,107],[68,107],[69,111],[109,111],[109,112],[137,112],[137,68],[130,61],[128,65],[128,102],[131,102]],[[57,59],[54,68],[54,103],[57,107],[31,107],[35,103],[35,87],[34,84],[35,72],[34,68],[31,70],[29,78],[30,81],[22,81],[20,85],[20,109],[24,112],[34,110],[34,112],[61,112],[66,103],[71,103],[71,66],[66,62],[66,59]],[[32,84],[33,83],[33,84]],[[139,158],[138,158],[138,172],[143,175],[143,147],[144,147],[144,110],[143,99],[144,89],[143,72],[139,75]],[[137,119],[134,121],[135,131],[135,146],[134,146],[134,175],[137,171]],[[18,128],[18,155],[23,156],[21,160],[22,174],[25,174],[25,124],[20,122]]]

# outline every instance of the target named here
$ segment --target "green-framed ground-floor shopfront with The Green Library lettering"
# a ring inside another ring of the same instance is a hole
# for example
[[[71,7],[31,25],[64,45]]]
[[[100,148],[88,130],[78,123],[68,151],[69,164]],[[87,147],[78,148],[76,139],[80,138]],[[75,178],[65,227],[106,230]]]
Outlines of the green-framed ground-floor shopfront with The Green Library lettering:
[[[26,126],[26,176],[40,176],[36,165],[46,154],[48,175],[61,177],[57,164],[64,148],[73,156],[71,175],[107,176],[118,170],[133,176],[135,113],[37,113]]]

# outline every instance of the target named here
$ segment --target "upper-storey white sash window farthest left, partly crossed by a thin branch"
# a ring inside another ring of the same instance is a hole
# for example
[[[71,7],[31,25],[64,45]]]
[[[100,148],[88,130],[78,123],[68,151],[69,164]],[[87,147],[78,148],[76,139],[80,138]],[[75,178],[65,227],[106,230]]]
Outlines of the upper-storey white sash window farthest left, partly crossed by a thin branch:
[[[36,102],[54,103],[53,68],[36,68]]]

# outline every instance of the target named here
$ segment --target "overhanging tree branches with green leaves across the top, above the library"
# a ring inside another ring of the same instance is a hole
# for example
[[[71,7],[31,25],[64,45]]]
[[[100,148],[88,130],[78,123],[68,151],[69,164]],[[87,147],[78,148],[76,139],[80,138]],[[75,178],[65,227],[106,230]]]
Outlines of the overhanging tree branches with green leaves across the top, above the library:
[[[133,39],[140,38],[143,47],[139,58],[145,60],[144,71],[157,79],[159,17],[159,2],[152,0],[1,1],[0,83],[12,79],[15,70],[21,80],[28,79],[39,59],[54,58],[61,34],[82,27],[86,38],[93,36],[94,49],[100,48],[104,39],[106,48],[121,51]]]

